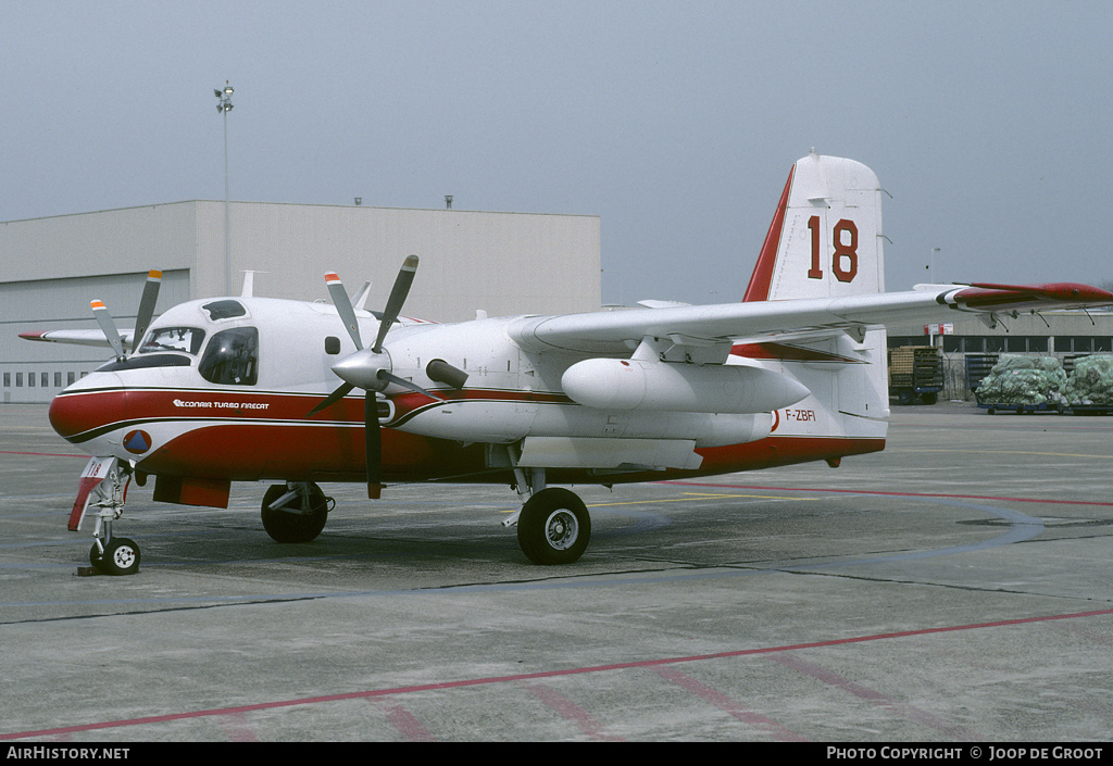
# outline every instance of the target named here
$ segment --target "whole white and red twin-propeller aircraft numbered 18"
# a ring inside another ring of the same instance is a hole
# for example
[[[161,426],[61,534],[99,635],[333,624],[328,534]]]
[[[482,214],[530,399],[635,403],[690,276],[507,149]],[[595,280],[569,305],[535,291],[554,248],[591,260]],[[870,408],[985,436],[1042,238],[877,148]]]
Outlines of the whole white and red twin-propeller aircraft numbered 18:
[[[503,523],[525,556],[569,563],[591,520],[550,484],[837,467],[884,449],[886,323],[1113,303],[1077,284],[884,293],[877,176],[815,153],[789,174],[740,303],[437,324],[400,316],[416,268],[407,257],[382,313],[328,274],[332,305],[245,289],[155,321],[151,272],[122,337],[98,301],[102,334],[24,334],[107,338],[116,353],[50,405],[55,430],[93,455],[69,521],[80,529],[95,509],[92,564],[138,569],[112,522],[130,480],[151,475],[155,500],[216,508],[234,481],[278,482],[262,515],[279,542],[323,529],[318,482],[366,481],[371,498],[392,482],[509,484],[524,504]]]

